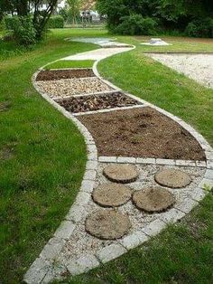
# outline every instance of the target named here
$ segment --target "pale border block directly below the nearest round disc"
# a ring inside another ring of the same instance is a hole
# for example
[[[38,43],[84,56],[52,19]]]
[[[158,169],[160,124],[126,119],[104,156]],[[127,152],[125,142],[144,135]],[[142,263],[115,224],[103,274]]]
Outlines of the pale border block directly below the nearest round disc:
[[[126,252],[125,248],[119,243],[113,243],[105,248],[97,251],[97,259],[100,260],[102,263],[106,263],[110,260],[115,260],[122,254]]]

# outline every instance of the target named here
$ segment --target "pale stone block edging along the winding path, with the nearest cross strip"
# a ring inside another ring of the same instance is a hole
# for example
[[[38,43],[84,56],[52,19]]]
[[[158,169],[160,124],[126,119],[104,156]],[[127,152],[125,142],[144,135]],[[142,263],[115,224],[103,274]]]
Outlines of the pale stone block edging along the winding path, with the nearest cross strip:
[[[103,80],[97,72],[97,64],[99,61],[95,62],[93,71],[97,77],[106,82],[107,85],[111,86],[116,91],[123,91],[117,88],[115,85],[111,84],[107,80]],[[45,65],[46,66],[46,65]],[[81,187],[79,189],[79,194],[74,204],[72,204],[69,213],[66,215],[63,222],[61,222],[60,227],[54,233],[50,241],[44,246],[39,258],[34,260],[30,269],[24,275],[23,281],[29,284],[36,283],[49,283],[53,279],[60,279],[61,274],[69,271],[71,275],[78,275],[88,270],[96,268],[101,263],[106,263],[109,260],[114,260],[120,255],[124,254],[136,246],[143,244],[144,241],[148,241],[151,237],[155,236],[169,223],[177,222],[181,220],[186,213],[189,213],[193,207],[199,204],[199,202],[207,194],[204,190],[208,185],[213,186],[213,150],[208,145],[208,142],[204,137],[199,135],[199,133],[186,124],[181,118],[177,118],[171,115],[169,112],[153,106],[143,99],[139,99],[131,94],[125,93],[133,99],[140,101],[145,106],[149,106],[153,109],[158,110],[167,117],[178,122],[183,128],[188,130],[190,134],[195,137],[200,146],[204,149],[207,163],[203,161],[181,161],[181,160],[166,160],[166,159],[154,159],[154,158],[140,158],[140,157],[116,157],[116,156],[100,156],[97,158],[97,147],[93,137],[88,132],[88,129],[84,127],[74,115],[70,114],[67,110],[60,107],[60,105],[51,99],[48,94],[42,92],[35,81],[38,71],[32,76],[32,84],[34,88],[42,95],[42,98],[46,99],[51,105],[58,109],[66,118],[69,118],[85,138],[85,142],[88,148],[88,162],[86,166],[86,172],[83,177]],[[124,91],[123,91],[124,92]],[[91,193],[93,191],[95,180],[97,176],[97,162],[102,163],[138,163],[138,164],[157,164],[157,165],[171,165],[171,166],[200,166],[207,167],[207,171],[204,175],[203,180],[200,182],[199,186],[195,188],[193,194],[190,198],[186,198],[183,203],[179,206],[174,206],[168,213],[163,214],[163,217],[150,222],[149,225],[144,227],[142,231],[134,232],[131,235],[127,235],[124,239],[116,241],[116,243],[110,244],[105,248],[97,251],[95,255],[84,254],[78,260],[71,260],[66,267],[55,268],[55,259],[62,250],[66,240],[69,239],[75,227],[78,225],[82,218],[86,217],[85,206],[87,206]],[[205,164],[206,163],[206,164]]]

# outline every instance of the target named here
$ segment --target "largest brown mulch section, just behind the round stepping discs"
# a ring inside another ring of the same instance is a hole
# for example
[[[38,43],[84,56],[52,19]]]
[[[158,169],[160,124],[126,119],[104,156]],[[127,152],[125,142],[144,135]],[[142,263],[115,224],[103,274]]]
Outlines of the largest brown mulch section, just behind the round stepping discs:
[[[81,116],[99,156],[205,160],[198,141],[155,109],[139,108]]]

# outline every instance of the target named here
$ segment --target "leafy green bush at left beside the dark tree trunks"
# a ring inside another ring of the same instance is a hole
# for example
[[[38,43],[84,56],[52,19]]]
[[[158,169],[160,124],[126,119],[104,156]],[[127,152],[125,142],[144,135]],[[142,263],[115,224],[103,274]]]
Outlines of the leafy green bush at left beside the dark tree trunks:
[[[36,42],[36,32],[30,16],[15,16],[12,29],[16,43],[29,46]]]

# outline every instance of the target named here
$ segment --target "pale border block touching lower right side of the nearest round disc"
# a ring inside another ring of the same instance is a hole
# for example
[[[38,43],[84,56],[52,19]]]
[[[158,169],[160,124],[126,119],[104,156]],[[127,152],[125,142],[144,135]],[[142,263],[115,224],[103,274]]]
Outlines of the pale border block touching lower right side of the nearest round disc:
[[[126,236],[123,240],[119,242],[125,247],[126,250],[131,250],[147,240],[148,237],[144,234],[144,232],[134,232]]]

